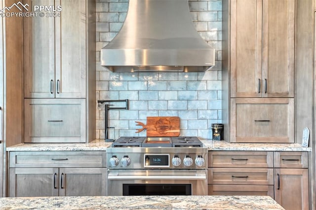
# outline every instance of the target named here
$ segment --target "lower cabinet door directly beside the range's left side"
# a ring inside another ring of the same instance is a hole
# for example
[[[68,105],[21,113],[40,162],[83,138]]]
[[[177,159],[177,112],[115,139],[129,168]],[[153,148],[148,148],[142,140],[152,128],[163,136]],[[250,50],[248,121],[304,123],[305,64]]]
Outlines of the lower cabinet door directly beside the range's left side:
[[[106,183],[106,168],[59,169],[59,196],[105,196]]]

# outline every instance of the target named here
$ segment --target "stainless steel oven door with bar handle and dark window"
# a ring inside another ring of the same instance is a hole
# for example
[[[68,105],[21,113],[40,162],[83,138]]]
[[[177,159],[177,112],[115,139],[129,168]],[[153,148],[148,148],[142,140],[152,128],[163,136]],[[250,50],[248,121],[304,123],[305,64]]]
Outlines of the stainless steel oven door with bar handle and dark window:
[[[207,195],[207,170],[109,170],[108,195]]]

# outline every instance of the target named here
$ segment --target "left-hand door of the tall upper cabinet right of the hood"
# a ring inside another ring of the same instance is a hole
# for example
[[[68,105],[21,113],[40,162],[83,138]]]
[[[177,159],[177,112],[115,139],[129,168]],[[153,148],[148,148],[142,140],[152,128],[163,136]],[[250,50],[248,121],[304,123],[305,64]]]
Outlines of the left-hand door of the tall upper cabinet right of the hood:
[[[262,0],[231,1],[231,97],[261,97]]]

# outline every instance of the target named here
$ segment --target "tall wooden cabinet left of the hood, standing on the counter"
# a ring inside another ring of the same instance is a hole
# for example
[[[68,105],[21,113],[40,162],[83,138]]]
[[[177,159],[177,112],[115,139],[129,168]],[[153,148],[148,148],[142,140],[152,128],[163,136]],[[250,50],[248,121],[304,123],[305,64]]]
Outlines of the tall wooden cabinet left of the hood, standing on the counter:
[[[24,143],[89,142],[95,137],[95,2],[24,3],[61,8],[24,19]]]

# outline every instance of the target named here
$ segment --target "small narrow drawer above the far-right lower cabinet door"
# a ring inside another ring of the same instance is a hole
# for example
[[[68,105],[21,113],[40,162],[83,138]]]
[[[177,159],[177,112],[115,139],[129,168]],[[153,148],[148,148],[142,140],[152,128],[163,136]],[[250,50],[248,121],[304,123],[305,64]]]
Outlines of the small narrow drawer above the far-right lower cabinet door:
[[[275,168],[308,168],[308,152],[275,151]]]

